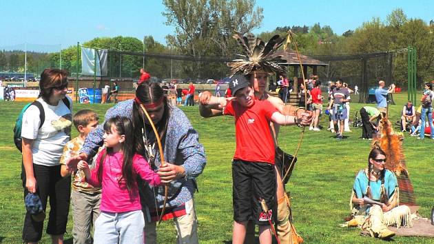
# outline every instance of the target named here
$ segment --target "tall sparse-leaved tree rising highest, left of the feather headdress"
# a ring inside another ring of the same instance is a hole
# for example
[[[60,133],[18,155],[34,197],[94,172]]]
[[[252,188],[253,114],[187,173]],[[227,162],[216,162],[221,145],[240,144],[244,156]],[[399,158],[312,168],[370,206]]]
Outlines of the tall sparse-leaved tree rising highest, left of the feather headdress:
[[[166,37],[167,43],[180,54],[195,58],[229,57],[236,46],[231,38],[234,30],[251,32],[260,26],[263,18],[262,8],[254,8],[254,0],[164,0],[163,3],[166,24],[174,26],[176,32]],[[190,62],[183,67],[188,77],[205,77],[212,72],[203,62]]]

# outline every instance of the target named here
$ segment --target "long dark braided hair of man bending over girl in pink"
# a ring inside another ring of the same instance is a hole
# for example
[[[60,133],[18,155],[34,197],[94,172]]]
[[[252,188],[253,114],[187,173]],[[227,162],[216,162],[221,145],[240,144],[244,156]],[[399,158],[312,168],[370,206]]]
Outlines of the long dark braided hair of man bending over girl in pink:
[[[136,97],[141,101],[145,106],[149,103],[156,103],[163,99],[163,107],[164,112],[161,120],[156,123],[156,128],[158,131],[158,136],[161,139],[161,143],[163,144],[163,148],[165,145],[165,134],[167,131],[167,123],[169,123],[169,114],[170,107],[167,103],[167,97],[161,88],[160,84],[156,82],[144,82],[138,85],[136,89]],[[134,145],[137,153],[144,155],[144,141],[143,141],[143,132],[147,133],[147,139],[149,143],[155,142],[156,137],[154,135],[154,131],[152,130],[151,125],[147,125],[144,121],[147,121],[147,118],[144,113],[139,113],[141,107],[138,103],[133,103],[133,127],[134,127]],[[143,114],[143,116],[141,116]],[[142,131],[143,129],[143,131]]]

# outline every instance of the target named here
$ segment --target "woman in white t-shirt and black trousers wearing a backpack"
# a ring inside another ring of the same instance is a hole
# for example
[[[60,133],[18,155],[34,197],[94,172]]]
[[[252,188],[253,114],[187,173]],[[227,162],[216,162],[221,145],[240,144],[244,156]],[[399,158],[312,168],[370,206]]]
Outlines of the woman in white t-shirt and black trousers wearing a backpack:
[[[39,98],[45,114],[41,121],[39,108],[30,105],[23,114],[23,179],[24,196],[37,193],[43,210],[50,197],[50,214],[47,233],[52,243],[63,243],[70,205],[70,176],[62,178],[60,158],[63,146],[70,140],[71,104],[66,96],[68,73],[58,69],[45,69],[39,81]],[[42,125],[41,125],[42,124]],[[36,243],[41,240],[43,221],[35,221],[25,214],[23,241]]]

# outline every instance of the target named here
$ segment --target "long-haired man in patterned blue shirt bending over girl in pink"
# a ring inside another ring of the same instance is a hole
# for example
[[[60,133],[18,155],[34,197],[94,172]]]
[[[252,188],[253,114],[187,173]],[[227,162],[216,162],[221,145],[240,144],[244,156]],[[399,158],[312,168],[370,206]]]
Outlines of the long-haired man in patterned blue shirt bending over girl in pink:
[[[156,134],[148,121],[154,123],[158,137],[164,148],[163,156],[156,145]],[[167,102],[163,89],[158,83],[143,82],[136,90],[136,97],[118,103],[107,110],[105,120],[114,116],[132,119],[134,145],[138,154],[143,154],[152,169],[168,184],[166,208],[161,218],[165,202],[165,187],[152,187],[139,183],[143,213],[146,218],[146,243],[156,243],[156,221],[158,218],[174,219],[177,243],[198,243],[197,218],[194,208],[194,192],[197,189],[196,177],[205,168],[205,152],[198,142],[198,132],[179,108]],[[68,167],[74,167],[79,160],[90,159],[102,145],[102,128],[96,128],[85,139],[81,154],[72,157]],[[165,163],[161,159],[165,159]]]

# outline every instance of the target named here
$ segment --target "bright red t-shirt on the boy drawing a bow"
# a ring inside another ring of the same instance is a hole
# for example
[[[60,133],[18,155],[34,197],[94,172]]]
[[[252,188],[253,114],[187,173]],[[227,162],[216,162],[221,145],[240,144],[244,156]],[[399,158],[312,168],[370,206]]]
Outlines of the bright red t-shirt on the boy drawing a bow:
[[[234,159],[274,164],[274,143],[269,124],[276,111],[267,100],[255,99],[250,108],[242,107],[234,100],[227,104],[223,114],[235,117]]]

